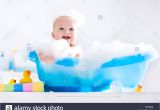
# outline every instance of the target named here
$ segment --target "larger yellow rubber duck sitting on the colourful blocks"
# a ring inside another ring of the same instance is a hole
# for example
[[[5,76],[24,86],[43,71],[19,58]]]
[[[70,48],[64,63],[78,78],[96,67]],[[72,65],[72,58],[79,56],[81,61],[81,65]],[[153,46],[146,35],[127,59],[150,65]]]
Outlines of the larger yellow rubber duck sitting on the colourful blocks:
[[[32,79],[30,78],[31,71],[30,70],[25,70],[23,72],[23,78],[20,79],[19,83],[32,83]]]

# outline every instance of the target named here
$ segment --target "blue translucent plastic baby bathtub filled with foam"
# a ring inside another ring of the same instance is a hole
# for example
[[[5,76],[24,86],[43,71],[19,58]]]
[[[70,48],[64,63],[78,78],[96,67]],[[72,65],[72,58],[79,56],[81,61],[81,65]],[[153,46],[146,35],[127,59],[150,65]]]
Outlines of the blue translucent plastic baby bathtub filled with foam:
[[[114,58],[95,70],[79,70],[76,58],[64,58],[48,65],[41,62],[35,51],[29,58],[36,63],[38,77],[44,82],[45,91],[97,92],[110,89],[112,82],[121,88],[134,89],[141,84],[147,69],[148,54]]]

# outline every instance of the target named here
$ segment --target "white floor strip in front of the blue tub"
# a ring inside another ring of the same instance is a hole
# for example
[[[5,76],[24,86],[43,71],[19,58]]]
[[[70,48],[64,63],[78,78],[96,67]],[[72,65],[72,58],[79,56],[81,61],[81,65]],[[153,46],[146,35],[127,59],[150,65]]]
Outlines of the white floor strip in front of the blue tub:
[[[1,92],[0,103],[160,103],[160,93]]]

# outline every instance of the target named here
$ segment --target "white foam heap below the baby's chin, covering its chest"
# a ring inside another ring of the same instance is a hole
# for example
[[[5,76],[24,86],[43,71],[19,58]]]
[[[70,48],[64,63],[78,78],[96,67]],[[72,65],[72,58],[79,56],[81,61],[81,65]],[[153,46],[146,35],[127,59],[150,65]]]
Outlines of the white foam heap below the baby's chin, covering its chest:
[[[63,39],[48,39],[42,40],[35,45],[35,50],[38,53],[53,55],[56,59],[65,57],[76,57],[82,53],[80,46],[70,47],[69,43]]]

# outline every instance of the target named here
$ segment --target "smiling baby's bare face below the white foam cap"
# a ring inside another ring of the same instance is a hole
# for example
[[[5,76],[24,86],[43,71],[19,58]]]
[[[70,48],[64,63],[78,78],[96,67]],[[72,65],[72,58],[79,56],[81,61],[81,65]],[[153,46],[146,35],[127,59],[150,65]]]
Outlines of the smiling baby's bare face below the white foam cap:
[[[75,45],[76,41],[75,20],[68,16],[57,18],[53,24],[52,36],[56,39],[64,39],[71,46]]]

